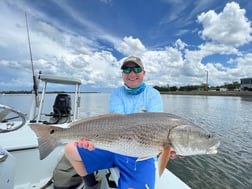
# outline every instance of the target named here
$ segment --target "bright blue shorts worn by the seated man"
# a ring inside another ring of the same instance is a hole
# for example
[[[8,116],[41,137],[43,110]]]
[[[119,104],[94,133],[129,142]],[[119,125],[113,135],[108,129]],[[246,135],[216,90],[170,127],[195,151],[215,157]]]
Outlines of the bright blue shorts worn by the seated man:
[[[118,167],[120,178],[118,189],[154,189],[155,163],[154,158],[136,161],[136,157],[128,157],[102,149],[89,151],[77,147],[88,174],[100,169]]]

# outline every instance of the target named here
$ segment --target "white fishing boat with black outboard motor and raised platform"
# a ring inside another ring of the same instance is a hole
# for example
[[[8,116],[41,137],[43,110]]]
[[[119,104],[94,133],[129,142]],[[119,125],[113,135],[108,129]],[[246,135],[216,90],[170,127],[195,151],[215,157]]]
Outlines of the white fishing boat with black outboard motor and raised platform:
[[[4,189],[53,189],[53,183],[49,181],[64,154],[63,146],[40,160],[37,137],[29,124],[44,123],[68,127],[70,123],[80,119],[79,79],[44,74],[39,74],[37,78],[38,83],[43,83],[43,87],[40,92],[33,91],[29,118],[13,107],[0,104],[0,185]],[[52,104],[53,111],[44,113],[43,105],[48,93],[48,83],[73,86],[73,104],[70,94],[59,93]],[[156,189],[190,189],[168,169],[165,169],[161,177],[158,176],[157,169],[156,175]],[[99,170],[98,176],[101,178],[101,189],[116,188],[119,170]]]

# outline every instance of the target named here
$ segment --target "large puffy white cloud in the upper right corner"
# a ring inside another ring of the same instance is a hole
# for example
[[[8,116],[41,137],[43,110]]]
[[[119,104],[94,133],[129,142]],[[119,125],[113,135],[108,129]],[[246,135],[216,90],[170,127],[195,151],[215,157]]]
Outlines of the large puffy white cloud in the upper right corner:
[[[198,16],[198,22],[203,25],[201,37],[235,47],[251,42],[251,22],[245,13],[246,10],[235,2],[227,3],[219,14],[214,10],[201,13]]]

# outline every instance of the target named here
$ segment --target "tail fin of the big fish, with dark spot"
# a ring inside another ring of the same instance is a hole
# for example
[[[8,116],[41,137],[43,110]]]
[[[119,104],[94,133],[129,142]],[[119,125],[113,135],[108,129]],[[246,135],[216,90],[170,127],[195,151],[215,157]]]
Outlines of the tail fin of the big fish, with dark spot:
[[[63,128],[44,124],[30,124],[30,127],[37,135],[40,160],[43,160],[59,145],[53,134],[56,130],[63,130]]]

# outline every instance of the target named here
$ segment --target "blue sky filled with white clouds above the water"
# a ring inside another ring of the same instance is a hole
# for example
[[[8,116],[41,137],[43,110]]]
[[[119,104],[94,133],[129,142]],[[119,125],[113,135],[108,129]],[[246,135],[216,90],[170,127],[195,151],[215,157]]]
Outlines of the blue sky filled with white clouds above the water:
[[[250,0],[0,0],[0,91],[32,90],[34,73],[123,84],[138,56],[151,86],[220,86],[252,77]],[[60,86],[63,87],[63,86]]]

